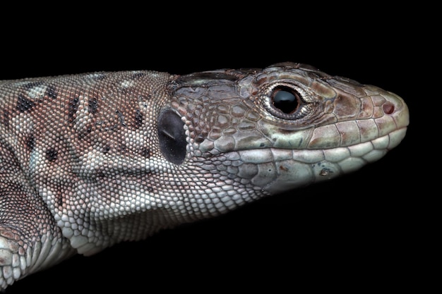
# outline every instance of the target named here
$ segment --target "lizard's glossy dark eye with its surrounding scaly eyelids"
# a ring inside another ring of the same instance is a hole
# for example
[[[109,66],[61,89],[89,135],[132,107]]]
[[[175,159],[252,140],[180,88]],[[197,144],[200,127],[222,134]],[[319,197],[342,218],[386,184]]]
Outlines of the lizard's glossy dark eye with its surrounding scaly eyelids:
[[[306,92],[288,82],[270,85],[265,90],[263,105],[270,114],[282,119],[299,119],[309,114]]]

